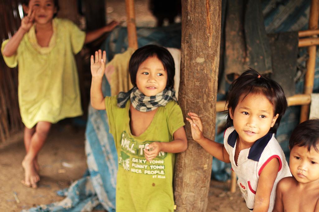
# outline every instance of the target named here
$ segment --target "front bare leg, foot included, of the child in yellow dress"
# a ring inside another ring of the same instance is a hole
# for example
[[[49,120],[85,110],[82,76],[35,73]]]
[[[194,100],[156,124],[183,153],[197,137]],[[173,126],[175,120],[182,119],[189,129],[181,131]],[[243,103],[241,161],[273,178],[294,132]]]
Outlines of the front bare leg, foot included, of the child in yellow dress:
[[[22,166],[25,171],[24,184],[28,187],[37,187],[37,182],[40,180],[39,174],[34,168],[34,159],[38,155],[39,151],[43,147],[45,140],[47,139],[48,132],[50,130],[51,123],[41,121],[37,123],[35,132],[31,137],[31,143],[27,151],[26,156],[22,161]]]

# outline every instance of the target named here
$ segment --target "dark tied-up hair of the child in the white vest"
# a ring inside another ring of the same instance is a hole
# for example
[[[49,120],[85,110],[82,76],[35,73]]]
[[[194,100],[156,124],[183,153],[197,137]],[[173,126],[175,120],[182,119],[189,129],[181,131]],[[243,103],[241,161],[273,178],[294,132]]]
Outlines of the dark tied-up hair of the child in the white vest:
[[[228,109],[234,110],[241,98],[245,98],[248,94],[263,94],[273,105],[274,116],[278,115],[278,118],[269,132],[276,133],[279,127],[281,117],[285,114],[287,108],[287,100],[282,87],[272,79],[263,77],[254,69],[249,69],[242,73],[234,82],[230,85],[227,94],[226,102],[228,102]],[[226,127],[233,126],[233,120],[230,118],[229,110],[226,122]]]

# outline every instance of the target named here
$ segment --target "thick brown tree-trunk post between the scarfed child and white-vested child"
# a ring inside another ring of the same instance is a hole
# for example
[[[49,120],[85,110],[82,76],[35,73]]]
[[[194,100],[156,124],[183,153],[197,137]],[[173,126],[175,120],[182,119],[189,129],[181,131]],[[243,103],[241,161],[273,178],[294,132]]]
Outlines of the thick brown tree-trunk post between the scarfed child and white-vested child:
[[[182,1],[179,104],[184,117],[189,111],[201,117],[210,139],[215,136],[220,25],[221,0]],[[175,162],[176,211],[206,211],[212,156],[192,140],[188,122],[185,129],[188,149]]]

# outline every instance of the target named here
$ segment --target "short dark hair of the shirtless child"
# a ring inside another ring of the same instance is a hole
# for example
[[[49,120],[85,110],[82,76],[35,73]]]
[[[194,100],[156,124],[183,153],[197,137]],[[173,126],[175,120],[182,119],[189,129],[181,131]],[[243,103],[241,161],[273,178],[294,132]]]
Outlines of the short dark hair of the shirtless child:
[[[289,139],[289,148],[294,146],[307,147],[310,151],[313,147],[317,152],[319,149],[319,119],[311,119],[300,123],[294,130]]]

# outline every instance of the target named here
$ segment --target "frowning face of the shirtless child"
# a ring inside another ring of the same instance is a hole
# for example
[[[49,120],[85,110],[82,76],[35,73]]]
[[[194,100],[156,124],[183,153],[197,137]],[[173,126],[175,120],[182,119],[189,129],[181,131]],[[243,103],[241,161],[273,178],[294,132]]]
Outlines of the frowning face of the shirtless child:
[[[289,168],[300,183],[319,183],[319,153],[307,146],[294,146],[290,151]]]

